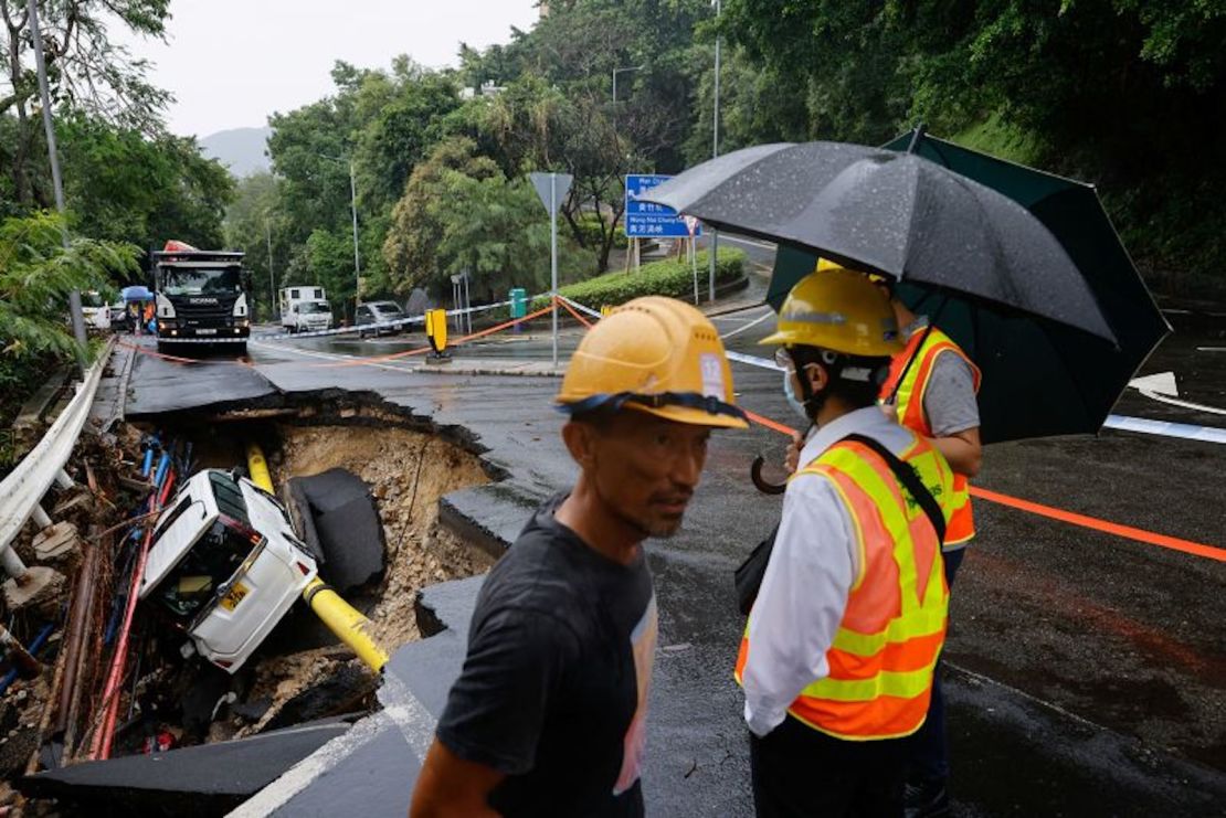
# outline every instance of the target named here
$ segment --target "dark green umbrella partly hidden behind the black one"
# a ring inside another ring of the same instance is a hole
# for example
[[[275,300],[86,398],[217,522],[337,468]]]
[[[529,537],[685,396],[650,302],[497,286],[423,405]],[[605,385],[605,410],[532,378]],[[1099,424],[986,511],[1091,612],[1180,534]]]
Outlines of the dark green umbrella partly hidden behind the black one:
[[[981,299],[904,279],[897,293],[966,350],[983,371],[984,442],[1096,432],[1149,354],[1170,332],[1091,185],[1025,168],[918,133],[890,142],[912,147],[999,190],[1031,212],[1060,242],[1094,293],[1116,343]],[[817,255],[780,247],[767,300],[775,309],[813,271]]]

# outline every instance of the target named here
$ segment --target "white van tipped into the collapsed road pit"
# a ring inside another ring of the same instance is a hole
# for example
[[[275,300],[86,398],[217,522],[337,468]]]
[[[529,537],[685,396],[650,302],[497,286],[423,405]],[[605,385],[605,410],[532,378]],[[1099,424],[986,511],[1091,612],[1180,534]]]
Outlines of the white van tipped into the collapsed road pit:
[[[140,598],[200,655],[233,674],[315,573],[315,558],[272,495],[246,478],[206,469],[158,518]]]

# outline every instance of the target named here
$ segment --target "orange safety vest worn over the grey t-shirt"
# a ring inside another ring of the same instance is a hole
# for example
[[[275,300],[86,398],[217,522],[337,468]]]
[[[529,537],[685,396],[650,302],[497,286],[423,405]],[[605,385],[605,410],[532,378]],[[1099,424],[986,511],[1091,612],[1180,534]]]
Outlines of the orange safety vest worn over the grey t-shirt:
[[[980,391],[981,375],[980,367],[966,356],[962,348],[955,344],[949,336],[935,327],[932,328],[932,332],[928,332],[927,338],[924,338],[926,332],[927,327],[920,327],[912,332],[911,338],[907,339],[906,348],[901,353],[897,353],[894,360],[890,361],[890,375],[881,387],[880,397],[885,400],[894,393],[894,386],[899,382],[902,370],[906,369],[907,376],[902,378],[902,386],[897,392],[899,422],[924,437],[933,437],[932,427],[928,425],[928,419],[923,411],[923,396],[928,389],[928,378],[932,376],[937,356],[944,351],[951,351],[966,361],[975,378],[976,392]],[[923,340],[923,348],[920,347],[921,340]],[[907,361],[917,354],[918,358],[916,358],[915,364],[907,369]],[[975,536],[975,516],[971,512],[971,492],[969,486],[970,481],[965,474],[954,475],[954,517],[949,520],[949,529],[945,531],[945,551],[962,547]]]

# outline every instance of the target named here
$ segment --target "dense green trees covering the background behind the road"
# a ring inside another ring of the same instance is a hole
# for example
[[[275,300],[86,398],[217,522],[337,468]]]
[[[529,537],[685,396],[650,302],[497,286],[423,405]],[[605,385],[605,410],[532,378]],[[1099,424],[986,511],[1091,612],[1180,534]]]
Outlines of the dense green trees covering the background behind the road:
[[[548,223],[532,170],[575,176],[562,209],[563,280],[604,273],[625,241],[624,174],[676,173],[711,154],[716,37],[721,152],[780,140],[877,144],[924,121],[1097,184],[1157,289],[1226,294],[1220,1],[723,0],[717,20],[707,0],[554,0],[504,44],[459,44],[454,69],[409,56],[337,62],[332,93],[270,116],[272,173],[237,184],[195,140],[166,132],[166,92],[110,36],[162,36],[169,0],[42,6],[69,235],[124,257],[172,236],[243,249],[264,316],[289,283],[324,284],[352,305],[351,173],[367,296],[445,294],[462,271],[474,298],[539,291]],[[5,224],[9,235],[42,234],[54,203],[25,10],[0,0],[0,219],[21,220]],[[9,263],[0,258],[0,276]],[[131,266],[105,269],[139,278]],[[9,306],[10,316],[47,312]],[[32,344],[15,343],[12,320],[0,349],[6,365],[25,356],[28,366]],[[61,325],[43,329],[51,326]]]

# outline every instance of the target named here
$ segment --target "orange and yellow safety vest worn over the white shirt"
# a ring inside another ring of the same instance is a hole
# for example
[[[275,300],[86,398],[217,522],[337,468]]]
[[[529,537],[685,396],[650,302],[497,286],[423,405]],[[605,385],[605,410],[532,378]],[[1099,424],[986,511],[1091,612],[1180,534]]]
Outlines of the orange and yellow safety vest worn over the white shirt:
[[[901,459],[915,467],[948,520],[953,471],[945,458],[916,436]],[[928,714],[945,642],[949,587],[937,531],[885,460],[862,443],[835,443],[797,474],[821,475],[837,490],[856,530],[859,574],[826,650],[830,674],[787,711],[836,738],[908,736]],[[749,649],[747,622],[736,669],[742,685]]]

